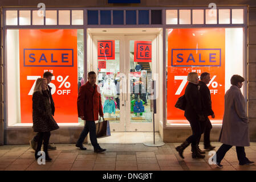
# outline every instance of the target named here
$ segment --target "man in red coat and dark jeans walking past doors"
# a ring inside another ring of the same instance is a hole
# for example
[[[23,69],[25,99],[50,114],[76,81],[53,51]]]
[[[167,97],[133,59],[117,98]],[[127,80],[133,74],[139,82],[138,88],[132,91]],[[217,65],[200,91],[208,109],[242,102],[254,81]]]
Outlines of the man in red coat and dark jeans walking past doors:
[[[80,134],[76,147],[81,150],[86,150],[83,146],[84,139],[90,132],[90,139],[95,152],[104,152],[105,149],[99,146],[96,138],[95,121],[99,119],[99,114],[103,117],[103,110],[101,105],[100,88],[95,84],[96,73],[88,73],[88,81],[86,84],[80,86],[78,93],[78,117],[86,121],[84,129]]]

